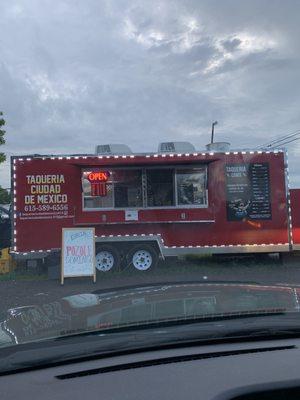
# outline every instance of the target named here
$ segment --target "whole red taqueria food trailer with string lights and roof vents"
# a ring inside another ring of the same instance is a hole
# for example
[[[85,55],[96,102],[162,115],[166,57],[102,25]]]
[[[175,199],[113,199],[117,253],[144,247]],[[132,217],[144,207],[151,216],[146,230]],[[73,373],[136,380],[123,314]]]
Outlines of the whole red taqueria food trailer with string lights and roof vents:
[[[100,271],[124,259],[146,270],[159,257],[300,249],[300,190],[288,188],[284,150],[102,145],[11,165],[14,254],[59,251],[70,227],[95,228]]]

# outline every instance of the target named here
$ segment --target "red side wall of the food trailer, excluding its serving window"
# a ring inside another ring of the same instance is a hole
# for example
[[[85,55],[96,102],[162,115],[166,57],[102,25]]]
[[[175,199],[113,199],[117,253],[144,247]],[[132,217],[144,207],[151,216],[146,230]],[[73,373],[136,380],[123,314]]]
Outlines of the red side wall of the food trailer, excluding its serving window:
[[[82,171],[87,168],[109,171],[199,165],[207,165],[207,207],[141,208],[134,210],[134,220],[128,220],[125,209],[83,209]],[[98,242],[101,237],[113,240],[124,236],[126,240],[128,236],[159,235],[163,246],[174,251],[208,247],[214,252],[232,246],[256,251],[247,246],[279,245],[284,249],[288,243],[282,152],[150,155],[126,160],[29,157],[14,158],[12,168],[16,191],[13,249],[18,252],[60,248],[61,229],[74,226],[94,226]]]

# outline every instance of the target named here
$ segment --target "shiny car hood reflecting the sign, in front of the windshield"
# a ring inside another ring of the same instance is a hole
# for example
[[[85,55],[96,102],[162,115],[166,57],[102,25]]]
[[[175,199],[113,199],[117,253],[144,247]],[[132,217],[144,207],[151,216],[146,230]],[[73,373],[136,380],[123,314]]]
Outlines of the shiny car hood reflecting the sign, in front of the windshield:
[[[298,304],[292,287],[237,283],[163,283],[80,293],[7,310],[0,322],[0,347],[151,321],[298,312]]]

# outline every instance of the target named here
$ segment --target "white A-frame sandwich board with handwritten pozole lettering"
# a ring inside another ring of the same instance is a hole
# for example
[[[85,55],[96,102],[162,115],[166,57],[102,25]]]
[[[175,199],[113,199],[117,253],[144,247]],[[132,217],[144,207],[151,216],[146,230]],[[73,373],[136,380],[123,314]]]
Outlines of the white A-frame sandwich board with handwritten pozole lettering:
[[[79,276],[92,276],[96,282],[95,229],[62,228],[61,284]]]

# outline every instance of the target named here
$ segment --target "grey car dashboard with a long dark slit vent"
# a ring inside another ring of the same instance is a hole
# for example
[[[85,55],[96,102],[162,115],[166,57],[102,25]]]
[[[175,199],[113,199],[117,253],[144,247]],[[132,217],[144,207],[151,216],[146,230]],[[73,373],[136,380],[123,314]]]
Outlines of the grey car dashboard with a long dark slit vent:
[[[300,398],[300,340],[223,343],[102,357],[0,377],[1,399]]]

